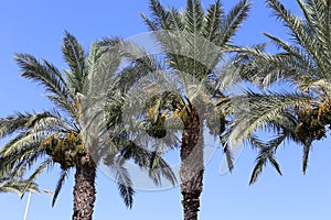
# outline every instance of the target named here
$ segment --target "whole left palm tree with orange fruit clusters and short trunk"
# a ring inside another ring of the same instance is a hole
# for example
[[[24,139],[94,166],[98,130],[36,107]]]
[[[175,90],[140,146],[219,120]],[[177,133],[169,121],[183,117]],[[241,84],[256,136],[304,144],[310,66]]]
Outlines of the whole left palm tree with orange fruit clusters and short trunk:
[[[113,40],[113,45],[117,41]],[[128,207],[132,206],[135,190],[124,166],[125,160],[131,158],[147,168],[159,164],[167,167],[167,163],[158,154],[140,151],[138,145],[125,142],[129,140],[109,136],[100,143],[99,136],[89,134],[102,132],[94,130],[98,129],[95,119],[104,117],[103,112],[94,111],[94,98],[100,98],[93,97],[99,91],[94,86],[99,79],[108,79],[104,81],[109,84],[108,89],[119,87],[114,74],[120,64],[118,53],[109,46],[94,43],[87,56],[77,40],[67,32],[62,52],[70,67],[64,74],[47,61],[39,62],[32,55],[17,54],[15,62],[22,76],[44,86],[47,92],[45,97],[55,103],[56,109],[40,113],[18,112],[0,119],[0,138],[13,136],[0,151],[0,167],[1,172],[11,172],[13,175],[36,167],[26,180],[24,193],[43,170],[58,164],[62,172],[54,190],[53,206],[70,170],[75,169],[73,219],[90,220],[96,198],[96,168],[100,163],[114,173],[120,196]],[[108,132],[104,130],[104,133]],[[98,155],[102,150],[98,147],[108,152]],[[168,177],[172,177],[170,169],[161,170],[163,173],[150,172],[150,176],[163,175],[168,170]]]

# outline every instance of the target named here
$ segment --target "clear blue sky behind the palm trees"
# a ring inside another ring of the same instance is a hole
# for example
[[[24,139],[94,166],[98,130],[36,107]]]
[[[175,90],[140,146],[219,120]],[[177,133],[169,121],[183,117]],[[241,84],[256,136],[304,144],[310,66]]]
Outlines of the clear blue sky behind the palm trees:
[[[185,1],[163,0],[164,6],[184,7]],[[206,8],[213,0],[203,0]],[[223,0],[228,10],[236,1]],[[282,0],[297,12],[295,1]],[[65,68],[61,43],[65,30],[74,34],[88,48],[94,40],[119,35],[130,37],[147,31],[139,12],[148,13],[147,0],[125,1],[36,1],[1,0],[0,7],[0,117],[17,110],[52,108],[43,97],[43,90],[19,76],[13,62],[14,53],[29,53],[46,58],[60,68]],[[286,37],[286,32],[263,0],[256,0],[248,20],[235,37],[237,45],[252,45],[267,41],[261,32]],[[3,142],[0,142],[3,143]],[[314,143],[310,166],[306,176],[301,174],[301,147],[288,143],[277,158],[284,176],[267,166],[258,183],[248,186],[254,166],[255,152],[245,148],[233,174],[220,175],[223,154],[216,150],[206,166],[204,189],[201,197],[200,219],[279,220],[279,219],[330,219],[331,170],[330,142]],[[53,190],[57,169],[50,170],[39,179],[42,188]],[[70,219],[72,213],[73,179],[68,178],[54,208],[46,194],[32,195],[30,220]],[[132,210],[128,210],[118,196],[116,185],[102,172],[97,179],[97,201],[94,219],[181,219],[181,195],[179,188],[161,191],[138,190]],[[23,219],[26,196],[0,195],[1,219]]]

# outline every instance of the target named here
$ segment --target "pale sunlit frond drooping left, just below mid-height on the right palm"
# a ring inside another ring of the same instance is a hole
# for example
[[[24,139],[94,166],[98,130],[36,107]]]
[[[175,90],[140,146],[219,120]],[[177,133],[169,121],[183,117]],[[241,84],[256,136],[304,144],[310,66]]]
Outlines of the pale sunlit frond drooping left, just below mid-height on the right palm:
[[[236,108],[231,145],[241,143],[259,129],[276,131],[281,124],[287,128],[293,123],[290,109],[311,101],[302,94],[256,94],[247,91],[243,97],[235,97],[232,105]]]

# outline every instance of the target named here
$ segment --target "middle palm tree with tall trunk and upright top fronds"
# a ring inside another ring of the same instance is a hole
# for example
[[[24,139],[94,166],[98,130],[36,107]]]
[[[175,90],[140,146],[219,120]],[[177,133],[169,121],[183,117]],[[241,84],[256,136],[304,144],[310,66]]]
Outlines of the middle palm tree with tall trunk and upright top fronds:
[[[142,119],[140,128],[157,140],[157,147],[160,147],[161,142],[172,146],[180,142],[179,173],[185,220],[197,219],[200,209],[204,173],[203,129],[207,118],[205,112],[211,106],[214,108],[211,103],[213,95],[225,99],[212,79],[217,77],[215,69],[224,54],[236,50],[232,38],[246,19],[249,7],[249,3],[242,0],[226,15],[220,0],[210,6],[206,12],[199,0],[188,0],[184,11],[164,9],[158,0],[150,0],[152,15],[148,18],[142,14],[142,18],[164,56],[150,57],[126,45],[125,55],[135,64],[143,63],[150,73],[145,81],[135,87],[134,94],[137,96],[129,95],[135,99],[127,101],[137,103],[139,97],[145,95],[143,101],[139,103],[143,106],[142,117],[138,117]],[[160,64],[160,61],[164,62]],[[174,81],[177,88],[170,86],[168,89],[167,81]],[[217,135],[224,131],[223,113],[215,110],[213,114],[217,121],[213,132]],[[212,124],[212,121],[209,120],[207,124]],[[171,133],[179,130],[181,140],[175,142]],[[135,131],[131,130],[132,133]]]

